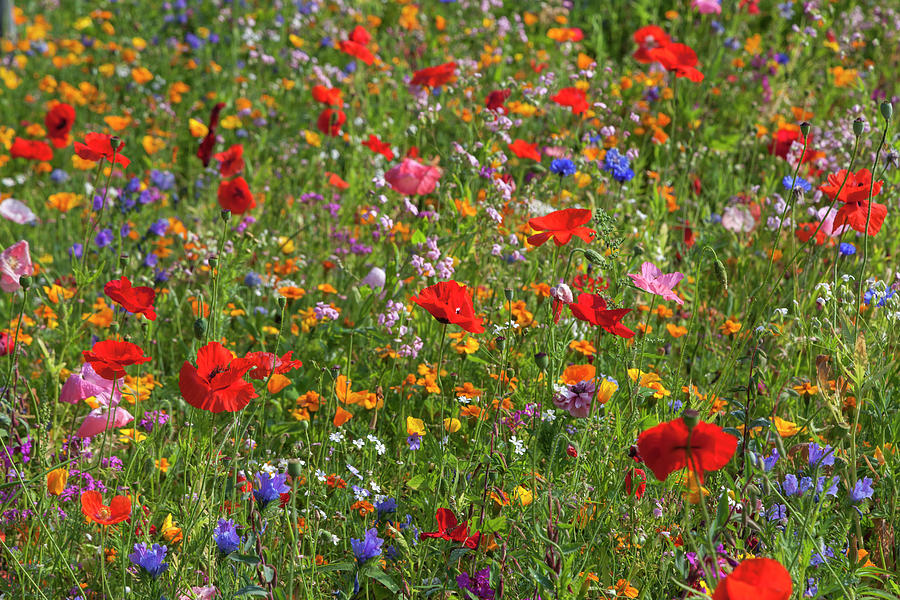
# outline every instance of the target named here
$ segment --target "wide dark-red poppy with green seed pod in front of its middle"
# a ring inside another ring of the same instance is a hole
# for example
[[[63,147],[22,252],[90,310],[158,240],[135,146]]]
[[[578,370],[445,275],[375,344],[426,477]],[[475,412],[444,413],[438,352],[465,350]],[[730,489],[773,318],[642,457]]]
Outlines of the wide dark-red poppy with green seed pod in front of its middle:
[[[637,447],[641,460],[660,481],[669,473],[687,467],[702,484],[706,471],[717,471],[728,464],[737,449],[737,438],[725,433],[718,425],[704,421],[688,429],[684,419],[678,418],[641,433]]]

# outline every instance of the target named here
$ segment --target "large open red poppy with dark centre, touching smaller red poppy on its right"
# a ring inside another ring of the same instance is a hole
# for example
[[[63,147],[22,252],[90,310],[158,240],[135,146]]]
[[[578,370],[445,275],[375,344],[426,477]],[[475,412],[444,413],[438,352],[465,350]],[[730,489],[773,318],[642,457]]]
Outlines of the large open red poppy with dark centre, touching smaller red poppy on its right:
[[[219,342],[210,342],[197,351],[197,366],[188,361],[178,373],[178,388],[184,401],[214,413],[237,412],[257,397],[244,374],[254,363],[235,358]]]

